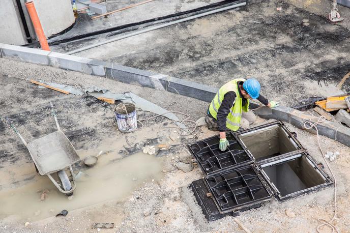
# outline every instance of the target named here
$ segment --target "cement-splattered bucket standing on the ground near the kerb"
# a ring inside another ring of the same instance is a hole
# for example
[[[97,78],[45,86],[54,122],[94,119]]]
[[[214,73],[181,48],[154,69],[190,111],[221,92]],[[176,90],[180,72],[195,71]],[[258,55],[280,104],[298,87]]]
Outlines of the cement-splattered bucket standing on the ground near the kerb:
[[[121,132],[127,133],[136,130],[136,106],[132,103],[120,103],[114,109],[115,120]]]

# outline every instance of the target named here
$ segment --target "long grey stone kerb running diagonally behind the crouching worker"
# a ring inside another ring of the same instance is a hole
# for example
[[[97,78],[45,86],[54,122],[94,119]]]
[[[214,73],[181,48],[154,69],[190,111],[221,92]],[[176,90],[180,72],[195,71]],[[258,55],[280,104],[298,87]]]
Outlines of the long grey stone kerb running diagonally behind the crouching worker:
[[[136,84],[148,88],[165,90],[167,92],[192,97],[198,100],[211,102],[217,88],[212,86],[158,74],[150,71],[139,70],[131,67],[121,66],[110,62],[102,62],[84,57],[67,55],[63,53],[43,51],[40,49],[26,48],[15,45],[0,43],[1,57],[20,62],[28,62],[45,66],[52,66],[60,69],[72,70],[84,74],[102,76],[116,81]],[[252,103],[251,108],[258,105]],[[254,112],[264,119],[276,119],[290,123],[297,128],[315,133],[315,130],[305,129],[304,123],[317,121],[317,117],[306,114],[302,111],[279,106],[277,108],[260,107]],[[325,121],[317,125],[320,135],[337,140],[350,147],[350,129],[334,122]]]

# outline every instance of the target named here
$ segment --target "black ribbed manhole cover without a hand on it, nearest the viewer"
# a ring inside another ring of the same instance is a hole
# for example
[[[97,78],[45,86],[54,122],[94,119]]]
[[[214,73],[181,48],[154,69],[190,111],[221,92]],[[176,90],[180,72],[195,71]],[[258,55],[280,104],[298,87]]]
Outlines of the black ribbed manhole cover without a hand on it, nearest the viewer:
[[[271,197],[251,166],[205,178],[221,212]]]

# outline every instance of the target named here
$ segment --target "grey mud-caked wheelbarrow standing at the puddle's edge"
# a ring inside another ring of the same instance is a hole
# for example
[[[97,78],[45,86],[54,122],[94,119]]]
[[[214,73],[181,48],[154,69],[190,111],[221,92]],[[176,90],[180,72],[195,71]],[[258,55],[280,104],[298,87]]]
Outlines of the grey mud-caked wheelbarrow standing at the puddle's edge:
[[[13,124],[11,124],[8,119],[5,120],[28,149],[38,174],[40,174],[40,176],[48,176],[60,192],[70,196],[73,194],[76,187],[72,165],[80,159],[70,140],[61,131],[52,103],[50,103],[50,105],[56,122],[57,131],[34,141],[27,143]],[[67,175],[66,170],[69,170],[71,179]],[[55,173],[57,174],[56,179],[53,178]]]

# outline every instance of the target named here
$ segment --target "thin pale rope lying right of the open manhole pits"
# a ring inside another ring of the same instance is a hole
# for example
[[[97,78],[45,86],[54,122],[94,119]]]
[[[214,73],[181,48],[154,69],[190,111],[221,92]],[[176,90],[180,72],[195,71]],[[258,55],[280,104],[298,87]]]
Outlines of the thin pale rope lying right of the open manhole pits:
[[[321,227],[323,227],[323,226],[326,225],[326,226],[328,226],[328,227],[330,227],[330,228],[332,229],[332,233],[334,232],[334,230],[335,230],[336,232],[339,233],[338,228],[332,224],[332,222],[333,222],[335,219],[337,219],[337,181],[336,181],[336,179],[335,179],[335,176],[334,176],[334,174],[333,174],[333,171],[332,171],[332,169],[331,169],[331,167],[330,167],[328,161],[327,161],[326,158],[325,158],[325,153],[323,152],[322,147],[321,147],[321,143],[319,142],[319,134],[318,134],[318,129],[317,129],[317,125],[318,125],[319,123],[324,122],[324,121],[326,121],[326,118],[325,118],[325,116],[322,115],[322,116],[320,116],[320,117],[318,118],[317,122],[315,122],[315,123],[312,123],[312,122],[311,122],[311,119],[310,119],[308,122],[304,122],[304,127],[305,127],[306,129],[315,128],[316,134],[317,134],[317,142],[318,142],[319,150],[321,151],[322,156],[323,156],[323,159],[325,160],[325,162],[326,162],[326,164],[327,164],[327,167],[328,167],[328,169],[330,170],[330,172],[331,172],[331,174],[332,174],[332,177],[333,177],[333,180],[334,180],[334,215],[333,215],[333,218],[332,218],[330,221],[327,221],[326,219],[323,219],[323,218],[318,218],[317,220],[318,220],[319,222],[321,222],[321,224],[319,224],[319,225],[317,226],[316,230],[317,230],[318,233],[320,233],[319,229],[320,229]],[[308,126],[306,126],[306,124],[309,124],[310,126],[308,127]]]

